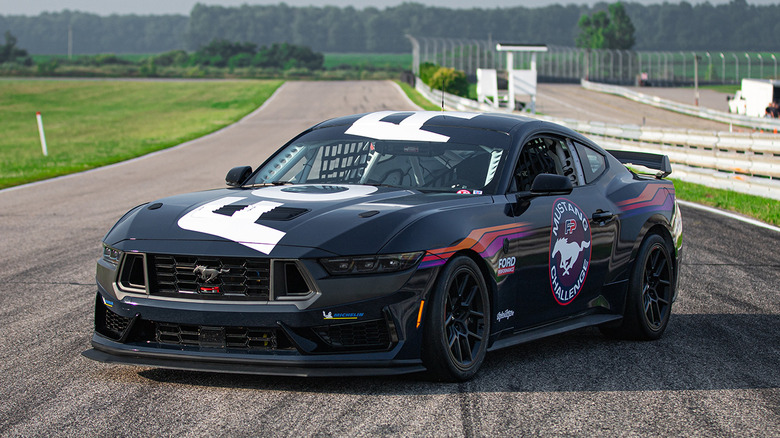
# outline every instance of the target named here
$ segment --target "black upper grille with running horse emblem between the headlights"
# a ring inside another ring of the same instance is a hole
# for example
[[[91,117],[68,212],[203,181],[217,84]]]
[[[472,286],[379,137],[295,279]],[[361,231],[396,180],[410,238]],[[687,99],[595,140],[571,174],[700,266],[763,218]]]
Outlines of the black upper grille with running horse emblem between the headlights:
[[[269,259],[162,254],[150,258],[152,295],[251,301],[270,297]]]

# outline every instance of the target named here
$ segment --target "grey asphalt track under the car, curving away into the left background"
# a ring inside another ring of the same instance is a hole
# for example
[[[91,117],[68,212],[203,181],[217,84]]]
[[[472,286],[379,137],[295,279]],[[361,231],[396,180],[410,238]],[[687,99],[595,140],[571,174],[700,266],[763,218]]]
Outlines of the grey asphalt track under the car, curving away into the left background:
[[[386,108],[412,105],[389,82],[288,82],[184,147],[0,191],[0,436],[780,436],[780,233],[688,208],[680,296],[658,342],[585,329],[489,354],[465,384],[80,355],[100,240],[126,210],[220,187],[320,120]]]

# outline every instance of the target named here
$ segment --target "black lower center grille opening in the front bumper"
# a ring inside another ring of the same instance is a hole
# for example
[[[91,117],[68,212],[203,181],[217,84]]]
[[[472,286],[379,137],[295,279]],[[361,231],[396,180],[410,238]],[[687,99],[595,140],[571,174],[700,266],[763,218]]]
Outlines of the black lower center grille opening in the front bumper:
[[[248,351],[292,349],[276,329],[259,327],[211,327],[155,323],[155,340],[161,344],[227,348]]]

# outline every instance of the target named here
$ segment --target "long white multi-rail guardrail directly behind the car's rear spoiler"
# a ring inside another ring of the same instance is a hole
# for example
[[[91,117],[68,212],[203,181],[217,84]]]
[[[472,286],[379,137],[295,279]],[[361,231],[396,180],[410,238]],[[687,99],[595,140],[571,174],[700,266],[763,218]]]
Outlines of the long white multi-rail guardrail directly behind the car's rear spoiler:
[[[431,90],[419,78],[415,88],[435,104],[443,100],[447,110],[511,112]],[[661,129],[522,115],[564,125],[592,137],[606,149],[667,155],[674,164],[672,177],[682,181],[780,200],[780,135]]]

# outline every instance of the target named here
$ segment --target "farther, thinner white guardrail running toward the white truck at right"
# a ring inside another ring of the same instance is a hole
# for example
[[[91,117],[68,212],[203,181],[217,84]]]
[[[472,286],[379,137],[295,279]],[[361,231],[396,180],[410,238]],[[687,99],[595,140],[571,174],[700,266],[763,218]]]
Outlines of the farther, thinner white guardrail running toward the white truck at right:
[[[737,126],[746,126],[754,129],[766,129],[776,132],[780,129],[780,119],[765,119],[761,117],[750,117],[741,114],[732,114],[725,111],[718,111],[710,108],[702,108],[700,106],[687,105],[680,102],[675,102],[669,99],[663,99],[658,96],[652,96],[638,91],[629,90],[628,88],[618,85],[600,84],[598,82],[590,82],[583,79],[580,84],[586,90],[598,91],[601,93],[614,94],[617,96],[625,97],[626,99],[633,100],[634,102],[643,103],[645,105],[654,106],[677,113],[687,114],[689,116],[699,117],[702,119],[713,120],[721,123],[728,123]]]

